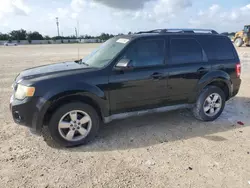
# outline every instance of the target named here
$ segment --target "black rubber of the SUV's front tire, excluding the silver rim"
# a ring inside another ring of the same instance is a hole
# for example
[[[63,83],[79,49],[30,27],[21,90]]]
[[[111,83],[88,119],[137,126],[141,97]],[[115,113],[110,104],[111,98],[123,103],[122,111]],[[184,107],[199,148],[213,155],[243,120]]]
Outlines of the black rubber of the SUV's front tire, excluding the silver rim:
[[[73,111],[73,110],[81,110],[81,111],[86,112],[90,116],[91,121],[92,121],[92,126],[87,136],[78,141],[68,141],[64,139],[58,130],[58,123],[60,119],[66,113]],[[93,140],[94,137],[98,133],[99,124],[100,124],[100,117],[92,106],[84,104],[84,103],[74,102],[74,103],[63,105],[62,107],[56,110],[56,112],[52,115],[51,120],[49,122],[49,131],[53,140],[56,141],[59,145],[64,146],[64,147],[73,147],[73,146],[86,144],[87,142]]]

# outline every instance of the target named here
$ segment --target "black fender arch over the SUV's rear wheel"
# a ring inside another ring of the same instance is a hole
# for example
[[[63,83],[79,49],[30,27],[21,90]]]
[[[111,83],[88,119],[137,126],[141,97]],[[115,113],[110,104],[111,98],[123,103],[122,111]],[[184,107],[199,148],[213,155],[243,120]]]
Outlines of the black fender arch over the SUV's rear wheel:
[[[197,97],[199,96],[200,92],[209,84],[212,82],[223,82],[227,85],[229,89],[229,94],[231,94],[233,90],[232,81],[230,76],[221,70],[215,70],[211,71],[207,74],[205,74],[197,83],[197,86],[195,88],[195,94],[190,97],[190,101],[194,102],[196,101]]]

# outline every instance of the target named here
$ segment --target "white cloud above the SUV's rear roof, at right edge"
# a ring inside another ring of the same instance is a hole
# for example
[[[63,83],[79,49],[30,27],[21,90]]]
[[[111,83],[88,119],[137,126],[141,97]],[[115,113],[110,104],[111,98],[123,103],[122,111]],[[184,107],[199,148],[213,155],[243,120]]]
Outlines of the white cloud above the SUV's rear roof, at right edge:
[[[189,23],[193,27],[210,27],[219,31],[236,31],[243,28],[249,22],[250,4],[225,10],[217,4],[212,5],[207,10],[200,11],[195,18],[191,18]],[[223,29],[223,30],[222,30]]]

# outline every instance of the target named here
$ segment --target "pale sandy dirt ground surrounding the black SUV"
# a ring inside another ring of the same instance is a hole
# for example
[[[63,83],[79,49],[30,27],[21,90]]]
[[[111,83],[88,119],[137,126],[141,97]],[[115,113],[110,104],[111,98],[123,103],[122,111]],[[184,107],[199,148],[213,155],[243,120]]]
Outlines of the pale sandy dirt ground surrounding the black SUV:
[[[240,93],[204,123],[188,110],[116,121],[92,143],[54,147],[13,123],[11,84],[23,69],[74,60],[97,44],[0,47],[0,187],[250,187],[250,48],[238,49]],[[237,122],[242,121],[244,125]]]

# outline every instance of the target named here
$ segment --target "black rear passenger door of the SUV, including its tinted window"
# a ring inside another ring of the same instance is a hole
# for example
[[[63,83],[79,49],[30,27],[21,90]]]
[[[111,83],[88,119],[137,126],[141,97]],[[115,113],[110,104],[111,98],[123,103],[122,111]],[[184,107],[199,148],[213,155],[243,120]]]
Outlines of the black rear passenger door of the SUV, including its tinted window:
[[[194,36],[172,36],[169,41],[168,100],[173,104],[193,102],[197,83],[211,66]]]

